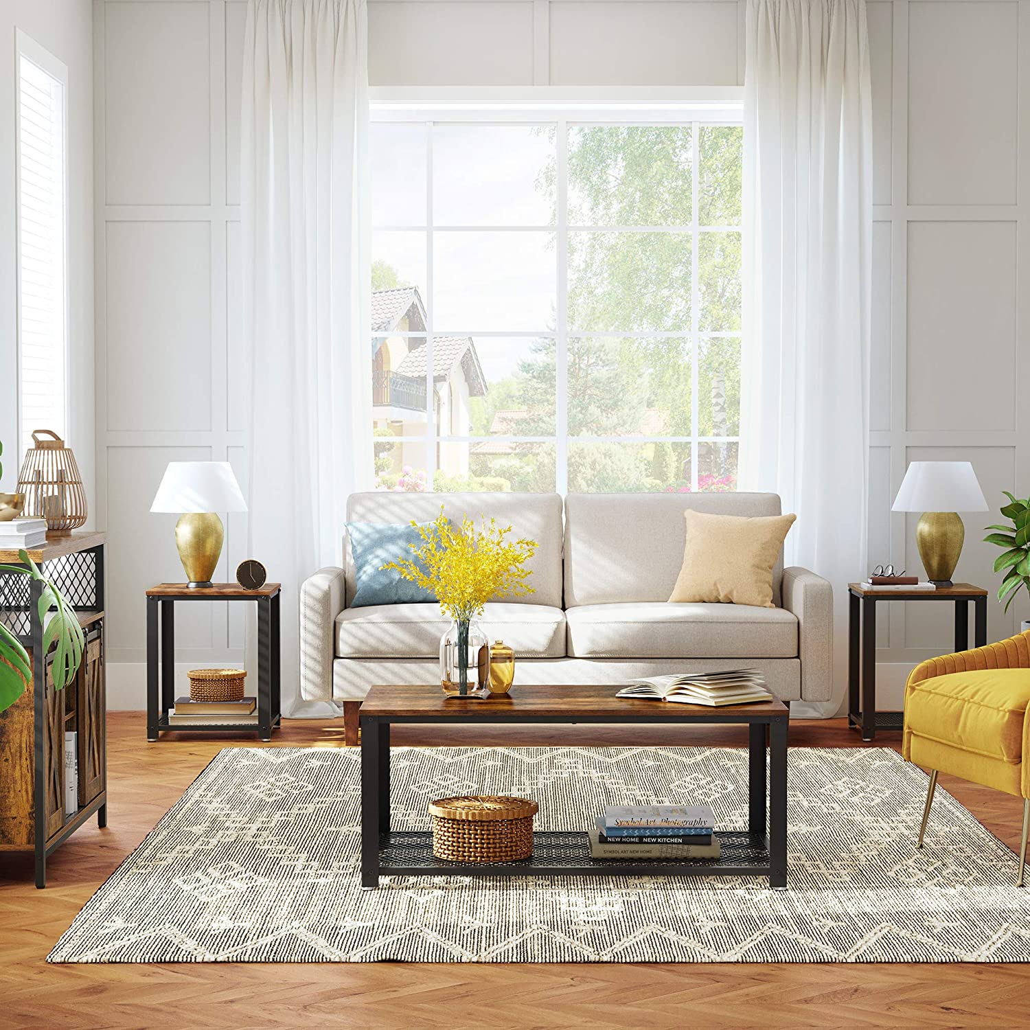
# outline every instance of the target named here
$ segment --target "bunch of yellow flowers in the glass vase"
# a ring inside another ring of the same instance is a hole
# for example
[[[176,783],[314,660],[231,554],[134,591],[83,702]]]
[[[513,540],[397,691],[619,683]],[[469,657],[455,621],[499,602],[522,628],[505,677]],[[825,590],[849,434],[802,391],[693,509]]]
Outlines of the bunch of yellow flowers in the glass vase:
[[[411,523],[422,538],[421,547],[409,545],[417,560],[401,558],[383,569],[392,569],[412,583],[432,590],[440,610],[458,621],[480,615],[483,606],[499,595],[519,597],[535,593],[526,583],[533,571],[524,568],[537,543],[511,540],[512,527],[501,528],[495,519],[476,528],[466,515],[454,523],[440,509],[440,517],[428,525]]]

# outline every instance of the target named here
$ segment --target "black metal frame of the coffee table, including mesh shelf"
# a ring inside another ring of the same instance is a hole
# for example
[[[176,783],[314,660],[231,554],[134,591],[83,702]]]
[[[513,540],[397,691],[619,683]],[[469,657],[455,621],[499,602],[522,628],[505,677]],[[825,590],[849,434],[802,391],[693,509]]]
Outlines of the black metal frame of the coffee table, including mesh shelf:
[[[362,887],[371,890],[380,876],[428,877],[768,877],[776,890],[787,888],[787,732],[788,711],[778,715],[697,713],[654,716],[561,716],[489,711],[440,715],[362,715]],[[716,860],[652,859],[625,862],[590,857],[583,831],[537,832],[534,857],[520,862],[468,865],[433,855],[433,834],[392,830],[389,810],[390,726],[393,723],[731,723],[748,726],[748,829],[717,830],[722,855]],[[766,781],[766,734],[768,779]],[[768,826],[765,790],[768,785]]]

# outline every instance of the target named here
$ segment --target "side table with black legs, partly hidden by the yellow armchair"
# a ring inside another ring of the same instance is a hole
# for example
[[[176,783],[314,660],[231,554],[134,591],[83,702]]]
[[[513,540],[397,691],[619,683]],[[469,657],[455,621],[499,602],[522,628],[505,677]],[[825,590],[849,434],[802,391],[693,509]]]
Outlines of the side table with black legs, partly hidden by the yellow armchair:
[[[956,583],[936,590],[884,590],[848,584],[848,725],[871,741],[878,729],[901,729],[903,712],[877,711],[877,602],[937,600],[955,605],[955,650],[969,647],[969,602],[975,625],[973,647],[987,643],[987,591],[971,583]],[[861,695],[861,700],[859,699]]]

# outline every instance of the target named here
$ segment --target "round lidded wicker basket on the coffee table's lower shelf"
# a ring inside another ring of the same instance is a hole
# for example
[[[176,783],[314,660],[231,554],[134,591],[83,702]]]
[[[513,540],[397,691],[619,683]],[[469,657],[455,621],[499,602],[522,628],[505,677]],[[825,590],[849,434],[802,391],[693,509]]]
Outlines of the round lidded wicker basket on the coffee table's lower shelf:
[[[533,857],[537,802],[522,797],[443,797],[430,802],[433,854],[450,862]]]

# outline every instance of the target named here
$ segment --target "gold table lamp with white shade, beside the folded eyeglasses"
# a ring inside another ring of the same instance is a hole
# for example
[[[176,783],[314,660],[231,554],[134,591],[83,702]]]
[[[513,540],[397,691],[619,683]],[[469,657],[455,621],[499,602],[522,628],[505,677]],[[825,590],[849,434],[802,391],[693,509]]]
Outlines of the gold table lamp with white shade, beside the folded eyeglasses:
[[[987,501],[968,461],[912,461],[893,512],[922,512],[916,544],[923,568],[937,586],[951,586],[965,526],[957,512],[986,512]]]

